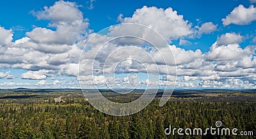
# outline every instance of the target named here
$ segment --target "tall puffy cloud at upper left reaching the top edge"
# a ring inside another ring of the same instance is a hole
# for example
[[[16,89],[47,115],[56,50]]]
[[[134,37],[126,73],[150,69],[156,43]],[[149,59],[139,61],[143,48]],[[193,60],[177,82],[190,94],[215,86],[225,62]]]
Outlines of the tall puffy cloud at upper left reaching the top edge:
[[[35,43],[72,45],[81,40],[88,27],[88,22],[83,18],[83,13],[77,8],[76,3],[57,1],[53,6],[45,6],[43,11],[33,11],[33,15],[39,20],[51,20],[49,26],[56,27],[56,31],[36,27],[26,33]]]

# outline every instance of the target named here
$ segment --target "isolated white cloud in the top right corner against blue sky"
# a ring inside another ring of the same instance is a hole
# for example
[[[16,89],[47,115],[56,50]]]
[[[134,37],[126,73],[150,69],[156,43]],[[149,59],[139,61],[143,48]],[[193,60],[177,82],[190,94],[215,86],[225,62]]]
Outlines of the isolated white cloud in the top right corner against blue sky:
[[[221,19],[224,26],[229,24],[246,25],[256,20],[256,8],[251,5],[249,8],[244,8],[242,4],[234,8],[226,18]]]

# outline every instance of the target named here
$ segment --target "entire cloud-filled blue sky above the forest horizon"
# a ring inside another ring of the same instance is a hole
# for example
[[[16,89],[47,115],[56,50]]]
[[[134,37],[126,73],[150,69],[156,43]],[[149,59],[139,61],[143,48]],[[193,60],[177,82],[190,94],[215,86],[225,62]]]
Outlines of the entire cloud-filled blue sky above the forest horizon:
[[[2,1],[0,88],[255,89],[255,6]]]

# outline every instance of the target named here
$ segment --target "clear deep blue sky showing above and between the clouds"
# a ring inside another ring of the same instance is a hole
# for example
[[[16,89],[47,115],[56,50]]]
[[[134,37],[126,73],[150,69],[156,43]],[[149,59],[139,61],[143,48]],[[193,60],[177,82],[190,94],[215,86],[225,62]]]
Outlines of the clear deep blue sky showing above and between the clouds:
[[[0,25],[6,29],[13,29],[13,40],[20,39],[26,35],[26,32],[31,31],[34,26],[47,27],[48,20],[36,20],[31,14],[31,11],[43,10],[44,6],[51,6],[56,1],[27,1],[29,4],[24,4],[22,1],[3,1],[1,4],[1,13],[8,13],[1,15]],[[203,35],[202,38],[191,40],[198,42],[195,47],[184,47],[186,50],[196,50],[200,48],[203,52],[209,50],[209,46],[216,41],[216,38],[226,32],[235,32],[246,34],[255,34],[255,23],[249,26],[230,25],[228,27],[221,26],[221,18],[225,18],[230,11],[232,11],[239,4],[245,7],[253,3],[250,1],[237,0],[232,1],[93,1],[93,8],[90,8],[90,1],[73,1],[79,5],[79,10],[84,13],[84,18],[90,20],[90,29],[96,33],[105,27],[118,24],[118,15],[121,13],[124,17],[131,17],[136,9],[143,6],[156,6],[157,8],[172,7],[177,10],[179,15],[183,15],[185,20],[188,20],[196,26],[203,22],[213,22],[218,25],[216,33]],[[15,9],[15,10],[14,10]],[[199,19],[200,21],[196,21]],[[249,43],[249,42],[248,42]],[[242,44],[245,47],[246,44]],[[208,47],[206,47],[208,46]]]

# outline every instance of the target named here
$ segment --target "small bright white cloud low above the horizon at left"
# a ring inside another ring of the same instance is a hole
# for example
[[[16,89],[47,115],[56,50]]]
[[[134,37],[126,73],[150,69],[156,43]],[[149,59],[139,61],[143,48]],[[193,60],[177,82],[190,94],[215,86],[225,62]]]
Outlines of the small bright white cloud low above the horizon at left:
[[[21,77],[31,80],[41,80],[46,78],[43,71],[28,71],[26,73],[22,73]]]

